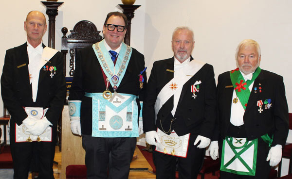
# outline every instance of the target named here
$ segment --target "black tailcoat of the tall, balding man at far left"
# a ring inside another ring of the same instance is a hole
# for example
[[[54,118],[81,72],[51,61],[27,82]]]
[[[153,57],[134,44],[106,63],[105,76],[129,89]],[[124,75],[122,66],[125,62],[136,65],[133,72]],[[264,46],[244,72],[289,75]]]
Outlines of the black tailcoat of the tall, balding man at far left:
[[[32,98],[28,64],[27,43],[6,51],[1,76],[1,95],[4,106],[11,115],[10,126],[14,130],[15,123],[21,125],[27,117],[23,107],[42,107],[49,108],[45,116],[53,124],[53,129],[56,129],[66,97],[63,55],[57,52],[45,64],[56,66],[53,78],[50,76],[51,71],[40,69],[36,102]]]

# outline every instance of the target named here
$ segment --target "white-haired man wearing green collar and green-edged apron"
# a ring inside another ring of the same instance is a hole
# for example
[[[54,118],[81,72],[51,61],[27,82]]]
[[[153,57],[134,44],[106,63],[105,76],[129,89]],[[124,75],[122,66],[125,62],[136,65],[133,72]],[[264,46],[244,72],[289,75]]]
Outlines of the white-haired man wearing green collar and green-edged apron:
[[[260,69],[260,47],[252,39],[239,43],[236,60],[238,68],[218,77],[219,119],[210,155],[215,160],[220,146],[221,179],[268,179],[289,130],[283,77]]]

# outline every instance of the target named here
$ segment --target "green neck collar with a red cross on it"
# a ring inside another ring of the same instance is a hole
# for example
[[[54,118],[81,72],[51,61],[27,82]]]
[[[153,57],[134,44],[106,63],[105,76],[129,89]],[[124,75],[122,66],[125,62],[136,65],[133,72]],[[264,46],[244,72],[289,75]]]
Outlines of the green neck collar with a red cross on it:
[[[234,87],[236,95],[239,98],[240,103],[244,110],[246,109],[246,104],[251,94],[251,91],[249,90],[248,87],[249,85],[251,85],[251,83],[253,83],[256,80],[256,77],[259,75],[260,71],[261,71],[260,67],[257,67],[256,71],[253,73],[252,80],[247,80],[247,81],[244,80],[238,68],[230,71],[230,79],[231,79],[232,85]]]

